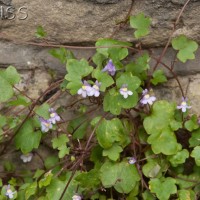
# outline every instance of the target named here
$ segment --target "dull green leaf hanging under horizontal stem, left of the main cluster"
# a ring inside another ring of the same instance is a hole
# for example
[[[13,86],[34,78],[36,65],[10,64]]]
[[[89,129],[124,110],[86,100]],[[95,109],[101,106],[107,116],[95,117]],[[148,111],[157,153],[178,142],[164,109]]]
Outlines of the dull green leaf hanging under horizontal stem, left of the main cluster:
[[[73,53],[69,50],[66,50],[65,48],[61,47],[59,49],[50,49],[49,53],[57,58],[61,63],[67,63],[68,59],[75,58]]]

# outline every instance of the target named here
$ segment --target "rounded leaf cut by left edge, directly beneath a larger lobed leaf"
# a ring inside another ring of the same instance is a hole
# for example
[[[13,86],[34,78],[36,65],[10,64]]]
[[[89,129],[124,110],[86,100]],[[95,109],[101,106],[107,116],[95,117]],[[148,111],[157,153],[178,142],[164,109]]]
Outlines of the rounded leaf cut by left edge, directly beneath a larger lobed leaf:
[[[6,102],[9,100],[13,94],[13,88],[10,83],[0,76],[0,102]]]

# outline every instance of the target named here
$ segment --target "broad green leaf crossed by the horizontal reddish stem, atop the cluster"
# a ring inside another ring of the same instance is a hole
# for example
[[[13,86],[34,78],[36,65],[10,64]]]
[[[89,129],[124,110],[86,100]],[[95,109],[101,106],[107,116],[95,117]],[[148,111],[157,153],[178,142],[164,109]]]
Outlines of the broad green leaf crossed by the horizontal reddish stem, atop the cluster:
[[[98,53],[104,55],[106,58],[111,58],[114,62],[123,60],[128,55],[127,48],[122,47],[132,46],[129,42],[121,42],[113,39],[99,39],[95,45],[99,47],[97,48]]]

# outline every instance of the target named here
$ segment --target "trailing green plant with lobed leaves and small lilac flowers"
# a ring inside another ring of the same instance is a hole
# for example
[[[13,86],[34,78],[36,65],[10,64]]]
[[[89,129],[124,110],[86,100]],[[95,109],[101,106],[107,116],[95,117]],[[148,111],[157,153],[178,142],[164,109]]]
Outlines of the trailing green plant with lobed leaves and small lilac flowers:
[[[150,24],[143,13],[130,17],[136,39],[150,32]],[[46,33],[38,27],[36,35],[42,38]],[[194,59],[195,41],[180,35],[171,44],[180,62]],[[127,63],[132,50],[138,56]],[[65,48],[52,49],[50,54],[66,64],[60,90],[78,99],[56,111],[41,98],[32,101],[16,89],[20,74],[13,66],[0,71],[0,102],[19,113],[0,115],[0,156],[10,153],[8,146],[26,156],[37,156],[46,141],[53,152],[36,171],[16,171],[14,163],[3,161],[0,199],[69,200],[75,195],[91,200],[199,198],[198,117],[188,114],[186,100],[177,109],[176,102],[155,98],[151,87],[167,78],[162,67],[152,68],[147,51],[133,48],[129,42],[99,39],[89,61],[76,59]],[[114,75],[103,70],[109,61],[115,67]],[[87,92],[83,81],[100,95],[78,96]],[[77,104],[75,118],[50,121]]]

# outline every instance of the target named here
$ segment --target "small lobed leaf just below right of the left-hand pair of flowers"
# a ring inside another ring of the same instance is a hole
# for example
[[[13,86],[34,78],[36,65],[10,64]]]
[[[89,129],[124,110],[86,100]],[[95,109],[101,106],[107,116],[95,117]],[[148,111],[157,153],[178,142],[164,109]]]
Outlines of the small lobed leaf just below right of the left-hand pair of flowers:
[[[65,135],[59,135],[58,138],[53,138],[52,144],[54,149],[59,150],[58,157],[63,158],[66,154],[69,154],[69,148],[67,148],[67,142],[69,142],[69,138]]]

